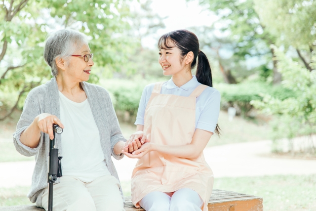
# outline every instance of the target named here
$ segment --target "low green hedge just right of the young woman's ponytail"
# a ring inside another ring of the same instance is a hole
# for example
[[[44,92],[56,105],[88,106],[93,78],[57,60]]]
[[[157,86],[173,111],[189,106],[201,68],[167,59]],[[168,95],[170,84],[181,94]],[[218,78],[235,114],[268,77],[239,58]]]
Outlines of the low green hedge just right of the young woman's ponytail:
[[[296,93],[282,85],[271,86],[263,82],[245,82],[242,84],[216,84],[221,92],[221,107],[237,108],[237,114],[248,117],[253,106],[252,100],[262,100],[263,94],[270,94],[278,99],[296,96]]]

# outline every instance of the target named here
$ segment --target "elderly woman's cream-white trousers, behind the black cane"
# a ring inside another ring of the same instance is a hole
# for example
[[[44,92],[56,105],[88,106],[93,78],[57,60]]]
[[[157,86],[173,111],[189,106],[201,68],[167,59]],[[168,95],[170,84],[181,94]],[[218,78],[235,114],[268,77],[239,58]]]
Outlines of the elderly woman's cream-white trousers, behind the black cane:
[[[119,182],[112,175],[100,176],[92,182],[82,182],[74,176],[60,177],[54,184],[54,211],[125,211],[119,192]],[[41,204],[48,210],[48,187]]]

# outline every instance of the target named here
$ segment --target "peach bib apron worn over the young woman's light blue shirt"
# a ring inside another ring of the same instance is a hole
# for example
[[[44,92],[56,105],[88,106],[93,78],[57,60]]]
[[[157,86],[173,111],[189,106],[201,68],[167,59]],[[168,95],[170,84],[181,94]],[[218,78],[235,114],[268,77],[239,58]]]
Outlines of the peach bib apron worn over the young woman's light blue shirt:
[[[160,94],[163,83],[155,84],[145,110],[144,134],[152,143],[180,146],[190,144],[195,132],[196,98],[207,87],[199,85],[189,97]],[[207,211],[213,188],[213,172],[203,153],[196,159],[179,158],[156,151],[139,159],[132,173],[131,199],[138,202],[153,191],[195,190]]]

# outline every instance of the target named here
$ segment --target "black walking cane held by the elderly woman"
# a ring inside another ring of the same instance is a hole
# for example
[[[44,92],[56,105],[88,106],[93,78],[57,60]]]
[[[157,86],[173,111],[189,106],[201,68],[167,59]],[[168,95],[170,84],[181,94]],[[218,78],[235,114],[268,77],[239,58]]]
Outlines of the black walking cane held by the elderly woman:
[[[58,156],[58,149],[55,146],[55,132],[61,134],[63,132],[63,128],[58,125],[53,125],[53,139],[49,140],[49,168],[48,168],[48,176],[47,182],[48,186],[48,211],[53,211],[53,183],[56,181],[57,177],[61,177],[61,165],[60,159],[63,157]]]

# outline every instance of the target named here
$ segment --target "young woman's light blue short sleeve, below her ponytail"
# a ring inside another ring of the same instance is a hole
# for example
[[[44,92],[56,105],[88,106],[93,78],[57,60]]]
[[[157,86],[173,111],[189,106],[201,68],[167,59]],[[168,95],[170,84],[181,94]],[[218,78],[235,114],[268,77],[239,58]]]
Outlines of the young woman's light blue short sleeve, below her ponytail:
[[[220,104],[221,94],[215,89],[215,91],[212,92],[211,96],[205,103],[204,108],[200,111],[197,129],[203,129],[210,132],[215,131],[219,116]]]

